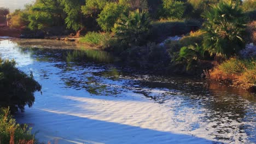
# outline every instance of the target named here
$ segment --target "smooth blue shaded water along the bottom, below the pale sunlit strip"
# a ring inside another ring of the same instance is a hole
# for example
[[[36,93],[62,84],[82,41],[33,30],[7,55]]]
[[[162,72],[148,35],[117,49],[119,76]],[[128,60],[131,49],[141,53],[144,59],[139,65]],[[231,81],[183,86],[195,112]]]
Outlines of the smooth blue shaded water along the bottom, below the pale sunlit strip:
[[[70,127],[69,123],[63,123],[61,127],[45,127],[39,130],[37,135],[44,140],[50,140],[52,143],[221,143],[191,135],[174,134],[127,124],[100,121],[75,115],[75,113],[66,113],[65,111],[39,111],[41,112],[38,113],[46,113],[45,115],[49,119],[60,119],[62,122],[72,123],[72,127]],[[30,117],[30,115],[31,117],[37,117],[38,113],[26,113],[24,121],[26,121],[26,118]],[[19,117],[22,117],[25,114],[19,113],[19,115]],[[55,121],[54,123],[57,124],[59,121]],[[65,134],[60,137],[57,135],[57,131],[66,130],[72,131],[72,135],[74,136]],[[43,133],[43,131],[48,131],[48,135],[40,135],[40,132]],[[49,131],[56,132],[55,134],[51,134]],[[110,136],[111,139],[106,139],[106,134]],[[155,139],[156,137],[158,137],[158,139]],[[159,141],[159,139],[161,139],[161,141]]]

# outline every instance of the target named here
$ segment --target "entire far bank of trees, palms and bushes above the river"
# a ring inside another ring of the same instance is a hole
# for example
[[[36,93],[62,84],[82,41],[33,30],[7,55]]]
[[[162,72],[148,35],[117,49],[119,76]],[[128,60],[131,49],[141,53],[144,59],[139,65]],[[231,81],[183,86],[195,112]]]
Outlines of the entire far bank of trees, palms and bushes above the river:
[[[201,75],[253,89],[255,3],[38,0],[9,14],[7,23],[20,29],[21,38],[79,38],[79,43],[114,52],[127,66],[156,73]],[[182,38],[170,39],[175,35]],[[224,76],[222,67],[231,61],[252,65],[236,68],[236,75],[246,75],[249,83],[237,76]]]

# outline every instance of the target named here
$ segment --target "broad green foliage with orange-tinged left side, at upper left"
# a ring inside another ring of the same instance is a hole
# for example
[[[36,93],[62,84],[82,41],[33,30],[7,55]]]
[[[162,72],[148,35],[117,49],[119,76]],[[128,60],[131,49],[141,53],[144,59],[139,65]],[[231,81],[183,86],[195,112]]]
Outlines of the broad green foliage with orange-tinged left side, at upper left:
[[[28,25],[31,30],[42,30],[45,27],[63,25],[63,10],[57,0],[37,0],[27,5],[25,10],[17,10],[11,14],[13,27]]]

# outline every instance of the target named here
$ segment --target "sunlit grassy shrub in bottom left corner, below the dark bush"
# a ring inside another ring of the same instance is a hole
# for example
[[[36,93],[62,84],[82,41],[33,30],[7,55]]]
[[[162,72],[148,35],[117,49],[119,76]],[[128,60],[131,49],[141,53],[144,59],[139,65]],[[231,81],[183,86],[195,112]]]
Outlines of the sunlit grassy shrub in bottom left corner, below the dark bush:
[[[17,124],[9,109],[0,109],[0,143],[36,143],[27,125]]]

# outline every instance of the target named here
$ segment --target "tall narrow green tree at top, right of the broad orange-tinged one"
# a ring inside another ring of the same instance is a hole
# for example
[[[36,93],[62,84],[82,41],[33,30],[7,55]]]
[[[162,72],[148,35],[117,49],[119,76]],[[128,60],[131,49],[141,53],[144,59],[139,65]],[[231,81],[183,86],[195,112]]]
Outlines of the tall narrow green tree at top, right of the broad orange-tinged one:
[[[85,4],[84,0],[58,0],[64,7],[63,11],[67,14],[65,23],[67,28],[72,28],[74,31],[84,27],[83,15],[81,6]]]

